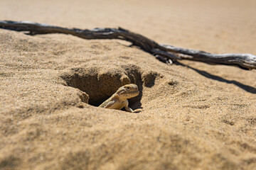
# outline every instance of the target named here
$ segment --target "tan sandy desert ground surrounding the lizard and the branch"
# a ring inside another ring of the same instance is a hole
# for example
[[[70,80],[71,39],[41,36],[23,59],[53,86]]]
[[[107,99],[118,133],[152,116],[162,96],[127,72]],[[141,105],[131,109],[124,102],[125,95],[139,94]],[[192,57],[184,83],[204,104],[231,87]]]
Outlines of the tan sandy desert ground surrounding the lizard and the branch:
[[[256,54],[255,6],[1,0],[0,19],[122,26],[178,47]],[[118,40],[0,30],[0,169],[256,169],[255,73],[167,65]],[[142,113],[95,107],[129,83]]]

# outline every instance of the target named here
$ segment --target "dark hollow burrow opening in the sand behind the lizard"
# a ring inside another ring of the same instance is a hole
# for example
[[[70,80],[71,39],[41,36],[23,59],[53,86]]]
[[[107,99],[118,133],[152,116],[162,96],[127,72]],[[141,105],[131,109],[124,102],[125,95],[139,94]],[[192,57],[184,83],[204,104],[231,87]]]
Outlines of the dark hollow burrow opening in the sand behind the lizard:
[[[143,86],[154,86],[156,77],[160,74],[143,71],[134,64],[85,64],[75,67],[61,74],[68,86],[80,89],[89,95],[89,104],[100,106],[110,98],[120,86],[137,84],[139,96],[129,99],[129,106],[141,106]]]

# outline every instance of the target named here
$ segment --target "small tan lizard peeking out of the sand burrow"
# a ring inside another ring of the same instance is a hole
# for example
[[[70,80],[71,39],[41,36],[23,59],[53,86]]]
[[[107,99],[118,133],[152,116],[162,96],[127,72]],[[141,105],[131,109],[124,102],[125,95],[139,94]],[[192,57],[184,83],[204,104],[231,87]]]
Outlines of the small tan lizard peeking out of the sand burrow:
[[[139,95],[138,86],[136,84],[127,84],[120,87],[117,92],[115,92],[110,98],[104,101],[99,107],[100,108],[111,108],[116,110],[121,110],[125,108],[126,111],[136,113],[142,111],[142,109],[138,108],[136,110],[132,110],[129,108],[128,98],[133,98]]]

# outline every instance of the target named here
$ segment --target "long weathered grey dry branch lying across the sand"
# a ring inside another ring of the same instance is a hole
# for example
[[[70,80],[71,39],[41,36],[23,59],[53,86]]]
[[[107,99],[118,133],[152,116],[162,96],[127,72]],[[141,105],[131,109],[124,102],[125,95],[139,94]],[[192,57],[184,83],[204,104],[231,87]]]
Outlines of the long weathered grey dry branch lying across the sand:
[[[132,33],[123,28],[95,28],[81,30],[78,28],[62,28],[41,23],[25,21],[0,21],[0,28],[7,30],[25,31],[27,35],[63,33],[75,35],[87,40],[91,39],[119,39],[132,42],[132,45],[156,56],[161,61],[169,60],[193,60],[208,64],[228,64],[242,69],[256,69],[256,56],[251,54],[211,54],[199,50],[185,49],[171,45],[161,45],[154,40]]]

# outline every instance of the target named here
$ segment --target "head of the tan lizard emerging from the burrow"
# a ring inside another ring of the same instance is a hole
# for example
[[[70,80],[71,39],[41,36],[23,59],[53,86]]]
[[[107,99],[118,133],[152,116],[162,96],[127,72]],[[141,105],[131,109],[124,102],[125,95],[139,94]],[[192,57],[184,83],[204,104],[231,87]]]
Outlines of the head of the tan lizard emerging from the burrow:
[[[124,85],[117,90],[117,94],[122,100],[133,98],[139,95],[138,86],[136,84]]]

